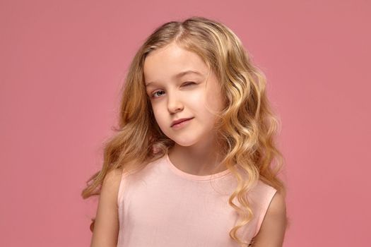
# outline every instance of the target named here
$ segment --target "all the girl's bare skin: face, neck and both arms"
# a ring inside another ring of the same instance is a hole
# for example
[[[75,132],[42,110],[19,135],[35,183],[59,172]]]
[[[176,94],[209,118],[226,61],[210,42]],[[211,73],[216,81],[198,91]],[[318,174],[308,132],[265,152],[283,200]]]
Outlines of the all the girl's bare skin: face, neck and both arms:
[[[182,71],[199,71],[200,76]],[[218,80],[212,71],[193,52],[170,44],[147,56],[144,64],[146,88],[151,106],[161,130],[175,141],[169,152],[172,163],[182,171],[195,175],[211,174],[218,164],[216,133],[213,131],[213,111],[223,109]],[[190,84],[194,82],[196,84]],[[155,97],[152,97],[155,92]],[[173,120],[194,117],[187,126],[175,130]],[[220,167],[220,171],[225,170]],[[218,171],[216,171],[218,172]],[[115,247],[119,234],[117,193],[122,170],[109,171],[102,183],[97,215],[90,247]],[[254,237],[254,247],[279,247],[283,244],[286,227],[285,200],[276,193],[271,200],[261,228]]]

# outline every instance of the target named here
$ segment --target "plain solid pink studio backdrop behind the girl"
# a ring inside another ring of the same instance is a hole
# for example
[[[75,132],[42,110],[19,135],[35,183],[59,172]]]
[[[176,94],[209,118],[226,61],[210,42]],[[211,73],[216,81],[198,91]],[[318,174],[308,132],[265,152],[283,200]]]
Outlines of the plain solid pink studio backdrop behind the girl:
[[[80,193],[100,169],[129,61],[155,27],[193,15],[228,25],[268,78],[287,162],[284,246],[369,246],[370,7],[1,1],[0,246],[90,244],[97,200]]]

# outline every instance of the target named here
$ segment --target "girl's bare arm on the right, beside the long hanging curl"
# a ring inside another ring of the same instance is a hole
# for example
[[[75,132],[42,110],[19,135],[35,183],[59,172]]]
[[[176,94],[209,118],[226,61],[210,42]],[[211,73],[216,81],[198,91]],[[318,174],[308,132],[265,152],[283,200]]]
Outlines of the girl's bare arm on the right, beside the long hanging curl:
[[[254,237],[253,247],[282,247],[287,225],[286,205],[283,195],[276,192]]]

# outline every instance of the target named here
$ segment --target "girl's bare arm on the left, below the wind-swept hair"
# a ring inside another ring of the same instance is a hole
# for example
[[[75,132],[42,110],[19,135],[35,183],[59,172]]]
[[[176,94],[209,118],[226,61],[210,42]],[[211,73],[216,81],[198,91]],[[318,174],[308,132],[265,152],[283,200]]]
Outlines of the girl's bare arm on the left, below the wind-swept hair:
[[[119,234],[117,195],[122,170],[109,171],[102,183],[90,247],[116,247]]]

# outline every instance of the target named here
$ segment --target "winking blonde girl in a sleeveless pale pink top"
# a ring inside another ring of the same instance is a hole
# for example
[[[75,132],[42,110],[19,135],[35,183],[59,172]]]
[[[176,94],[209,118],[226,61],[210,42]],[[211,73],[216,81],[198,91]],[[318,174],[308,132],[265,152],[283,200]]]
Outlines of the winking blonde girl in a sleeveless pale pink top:
[[[265,86],[225,25],[157,28],[131,62],[119,128],[82,193],[100,195],[91,246],[282,246],[283,157]]]

